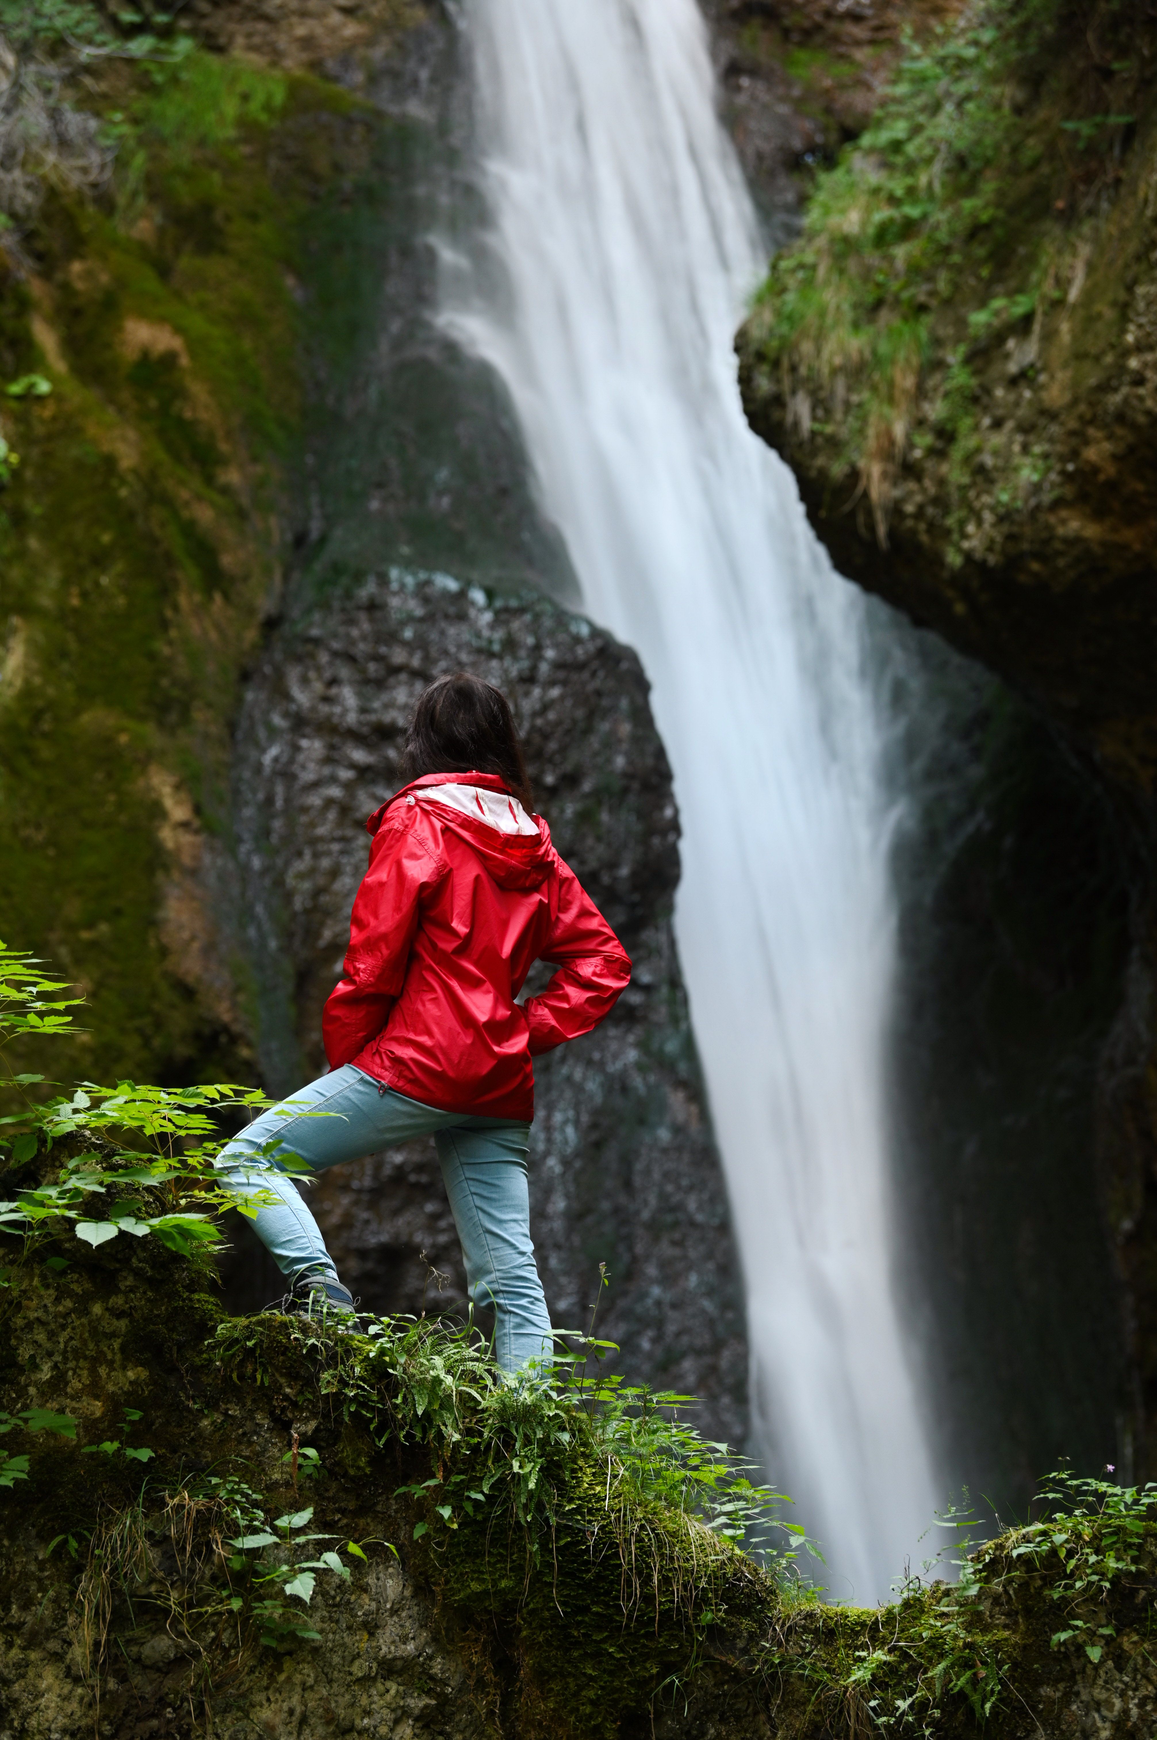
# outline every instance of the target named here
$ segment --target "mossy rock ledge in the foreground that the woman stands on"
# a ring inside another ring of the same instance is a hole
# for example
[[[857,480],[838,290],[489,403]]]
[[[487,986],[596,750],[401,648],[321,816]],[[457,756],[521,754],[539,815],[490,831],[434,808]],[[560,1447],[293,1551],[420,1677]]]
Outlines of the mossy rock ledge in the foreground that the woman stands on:
[[[19,1181],[9,1174],[5,1194]],[[209,1258],[127,1235],[90,1248],[66,1230],[7,1272],[2,1298],[0,1408],[77,1422],[75,1439],[16,1429],[3,1446],[28,1453],[28,1477],[0,1491],[9,1740],[819,1740],[889,1714],[896,1733],[964,1735],[986,1703],[993,1737],[1140,1740],[1157,1724],[1147,1526],[1114,1568],[1103,1524],[1082,1524],[1096,1568],[1084,1592],[1063,1589],[1051,1547],[1027,1554],[1014,1531],[967,1563],[959,1589],[823,1608],[781,1594],[684,1512],[625,1495],[581,1408],[543,1462],[553,1521],[518,1524],[499,1481],[473,1517],[454,1500],[447,1528],[437,1503],[452,1476],[463,1491],[485,1484],[470,1432],[404,1432],[414,1395],[400,1385],[416,1380],[367,1385],[365,1336],[226,1317]],[[513,1441],[536,1404],[501,1394]],[[129,1439],[153,1455],[127,1458]],[[306,1481],[310,1462],[322,1472]],[[318,1568],[308,1608],[282,1603],[313,1639],[275,1627],[261,1643],[261,1585],[230,1580],[214,1481],[244,1482],[273,1528],[285,1512],[329,1536],[313,1552],[343,1549],[348,1576]],[[426,1481],[440,1482],[431,1496]]]

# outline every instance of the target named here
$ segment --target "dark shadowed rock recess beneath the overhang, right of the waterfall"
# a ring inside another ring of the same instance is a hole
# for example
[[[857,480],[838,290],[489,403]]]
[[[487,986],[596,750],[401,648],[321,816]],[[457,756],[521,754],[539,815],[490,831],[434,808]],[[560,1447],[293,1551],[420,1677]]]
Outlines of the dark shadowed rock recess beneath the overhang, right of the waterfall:
[[[1060,1458],[1136,1469],[1098,1154],[1129,860],[1033,708],[927,632],[889,639],[906,672],[889,1039],[906,1308],[943,1489],[1009,1517]]]

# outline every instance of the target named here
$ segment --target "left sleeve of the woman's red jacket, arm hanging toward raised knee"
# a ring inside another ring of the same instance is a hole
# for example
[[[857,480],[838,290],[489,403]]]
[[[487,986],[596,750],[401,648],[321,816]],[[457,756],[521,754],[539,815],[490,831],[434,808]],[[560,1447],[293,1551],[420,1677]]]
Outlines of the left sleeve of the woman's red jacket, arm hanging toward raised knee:
[[[369,849],[369,870],[350,914],[350,947],[322,1014],[322,1044],[332,1070],[357,1058],[393,1007],[409,964],[423,894],[449,865],[405,821],[386,823]]]

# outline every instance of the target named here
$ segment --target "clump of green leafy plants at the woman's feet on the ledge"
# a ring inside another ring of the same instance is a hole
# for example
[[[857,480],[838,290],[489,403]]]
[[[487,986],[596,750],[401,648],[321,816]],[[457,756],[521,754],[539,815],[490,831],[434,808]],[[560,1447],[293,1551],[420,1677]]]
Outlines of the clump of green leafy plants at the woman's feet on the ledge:
[[[270,1338],[289,1338],[317,1364],[320,1394],[365,1423],[381,1448],[428,1446],[433,1472],[398,1493],[418,1502],[414,1540],[430,1550],[442,1552],[454,1531],[478,1524],[489,1538],[518,1533],[536,1563],[543,1542],[578,1514],[574,1474],[585,1470],[609,1535],[637,1563],[645,1557],[640,1516],[651,1509],[672,1509],[703,1529],[708,1583],[710,1564],[741,1547],[781,1582],[799,1582],[804,1554],[821,1561],[804,1528],[783,1519],[788,1500],[757,1484],[746,1458],[687,1423],[691,1397],[628,1385],[619,1375],[586,1376],[588,1357],[612,1343],[560,1331],[572,1348],[558,1347],[553,1369],[510,1380],[471,1322],[362,1322],[364,1333],[350,1333],[304,1319],[233,1319],[217,1331],[217,1357],[233,1369],[251,1362],[259,1376]],[[658,1536],[652,1545],[663,1550]]]

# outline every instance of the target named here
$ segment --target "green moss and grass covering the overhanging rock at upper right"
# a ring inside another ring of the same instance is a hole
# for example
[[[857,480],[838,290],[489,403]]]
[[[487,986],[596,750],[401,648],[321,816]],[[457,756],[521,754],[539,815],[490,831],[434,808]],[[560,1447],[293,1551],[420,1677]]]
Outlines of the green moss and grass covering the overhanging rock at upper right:
[[[959,546],[983,454],[966,383],[1007,343],[1027,345],[1032,369],[1033,318],[1056,294],[1073,216],[1096,212],[1119,179],[1143,97],[1126,54],[1141,24],[1101,0],[1096,77],[1086,24],[1070,0],[976,0],[922,47],[910,40],[870,127],[816,177],[804,237],[757,298],[750,367],[779,383],[790,433],[807,440],[816,428],[832,470],[859,473],[880,543],[931,390],[931,421],[952,442]],[[1044,472],[1009,478],[1004,505],[1042,482]]]

